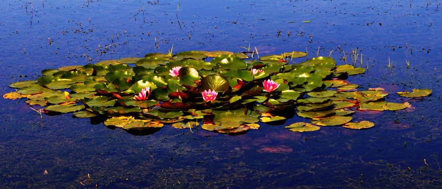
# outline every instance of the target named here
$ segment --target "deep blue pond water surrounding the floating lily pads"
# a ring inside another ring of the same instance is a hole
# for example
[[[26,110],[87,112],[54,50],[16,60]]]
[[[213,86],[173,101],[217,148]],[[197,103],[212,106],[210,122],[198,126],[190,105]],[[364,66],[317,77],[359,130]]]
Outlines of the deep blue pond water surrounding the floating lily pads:
[[[177,6],[179,9],[177,11]],[[245,135],[165,126],[131,135],[0,99],[0,188],[441,188],[442,19],[437,0],[2,0],[0,91],[40,71],[147,53],[362,54],[360,88],[433,89],[413,108],[357,112],[376,124]],[[311,22],[302,22],[311,21]],[[319,49],[319,50],[318,50]],[[340,51],[341,50],[341,51]],[[389,67],[388,59],[392,66]],[[406,60],[410,61],[407,68]],[[360,64],[358,60],[357,64]],[[308,120],[307,120],[308,121]],[[398,121],[399,123],[395,122]],[[47,171],[47,173],[45,172]]]

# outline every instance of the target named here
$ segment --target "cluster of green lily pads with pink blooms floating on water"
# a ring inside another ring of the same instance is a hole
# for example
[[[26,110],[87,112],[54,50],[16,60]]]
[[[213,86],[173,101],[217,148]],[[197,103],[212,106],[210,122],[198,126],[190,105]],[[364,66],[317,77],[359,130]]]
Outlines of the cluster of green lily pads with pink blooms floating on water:
[[[256,57],[256,54],[254,54]],[[253,53],[189,51],[146,54],[95,64],[43,70],[36,81],[10,84],[16,92],[3,97],[27,98],[48,114],[74,112],[75,117],[104,118],[106,126],[131,131],[199,127],[238,134],[259,128],[260,122],[282,124],[298,116],[310,123],[294,123],[294,132],[319,126],[366,129],[368,121],[351,122],[355,110],[399,110],[408,103],[385,101],[382,88],[358,90],[343,79],[364,68],[336,65],[331,57],[300,63],[304,52],[250,58]],[[399,92],[423,97],[429,89]]]

